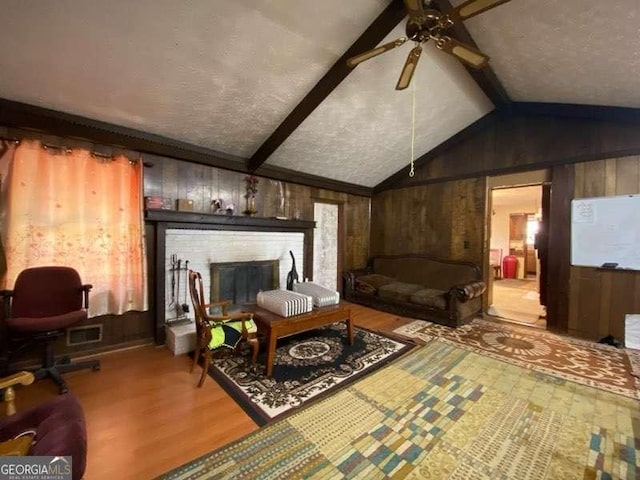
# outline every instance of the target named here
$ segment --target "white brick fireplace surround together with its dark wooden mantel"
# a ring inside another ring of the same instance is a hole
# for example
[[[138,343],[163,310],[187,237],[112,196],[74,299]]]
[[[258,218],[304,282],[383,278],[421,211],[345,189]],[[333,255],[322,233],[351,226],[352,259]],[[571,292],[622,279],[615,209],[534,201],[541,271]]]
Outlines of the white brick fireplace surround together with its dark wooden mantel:
[[[161,210],[147,210],[145,217],[147,224],[153,227],[147,235],[152,236],[150,240],[156,258],[153,308],[157,343],[165,341],[166,322],[177,317],[175,305],[169,306],[172,297],[175,304],[186,303],[189,307],[187,315],[193,318],[185,260],[189,260],[189,269],[201,273],[205,295],[211,289],[211,264],[272,262],[278,268],[271,285],[277,284],[284,289],[292,265],[289,251],[295,256],[300,279],[313,278],[315,222]],[[179,292],[177,278],[171,270],[172,255],[182,260]],[[175,283],[173,295],[172,279]],[[178,293],[179,298],[176,298]]]

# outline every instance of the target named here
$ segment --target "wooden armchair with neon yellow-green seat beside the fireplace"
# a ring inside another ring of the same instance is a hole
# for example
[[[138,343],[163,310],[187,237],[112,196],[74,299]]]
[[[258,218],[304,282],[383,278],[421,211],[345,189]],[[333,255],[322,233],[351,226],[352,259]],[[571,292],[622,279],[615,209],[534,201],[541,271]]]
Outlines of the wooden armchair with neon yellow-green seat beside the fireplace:
[[[204,303],[202,276],[200,272],[189,270],[189,294],[196,319],[196,350],[193,355],[191,372],[203,357],[202,375],[198,387],[201,387],[213,361],[213,351],[221,348],[235,350],[241,340],[251,346],[251,361],[258,358],[257,327],[253,321],[253,313],[228,313],[229,301]],[[213,315],[210,309],[218,307],[220,314]]]

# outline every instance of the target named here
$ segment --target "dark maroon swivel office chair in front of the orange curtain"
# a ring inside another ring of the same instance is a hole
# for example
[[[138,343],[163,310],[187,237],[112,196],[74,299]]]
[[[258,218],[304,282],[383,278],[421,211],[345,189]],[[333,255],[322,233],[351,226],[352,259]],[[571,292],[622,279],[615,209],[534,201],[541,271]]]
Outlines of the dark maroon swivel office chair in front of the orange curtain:
[[[69,267],[35,267],[18,275],[13,290],[4,297],[5,322],[9,333],[10,354],[33,342],[44,343],[43,365],[33,372],[36,379],[51,377],[60,393],[69,389],[62,373],[83,368],[100,370],[98,360],[71,362],[68,357],[56,361],[53,344],[65,329],[87,318],[89,290],[80,275]]]

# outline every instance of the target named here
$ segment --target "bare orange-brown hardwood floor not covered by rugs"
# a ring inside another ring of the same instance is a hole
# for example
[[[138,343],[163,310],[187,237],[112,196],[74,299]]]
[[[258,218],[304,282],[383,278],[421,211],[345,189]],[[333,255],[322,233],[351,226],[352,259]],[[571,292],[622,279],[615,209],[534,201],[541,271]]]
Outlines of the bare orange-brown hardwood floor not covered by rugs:
[[[356,325],[391,332],[411,320],[352,305]],[[89,452],[85,479],[153,478],[254,430],[257,425],[190,359],[165,346],[144,346],[100,357],[99,372],[65,375],[82,403]],[[17,391],[18,411],[55,397],[42,380]]]

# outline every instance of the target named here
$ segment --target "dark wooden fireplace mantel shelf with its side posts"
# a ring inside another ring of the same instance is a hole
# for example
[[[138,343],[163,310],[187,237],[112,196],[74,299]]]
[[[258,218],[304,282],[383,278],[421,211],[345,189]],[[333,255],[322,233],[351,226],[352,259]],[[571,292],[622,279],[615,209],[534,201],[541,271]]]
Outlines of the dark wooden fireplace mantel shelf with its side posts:
[[[155,318],[155,340],[158,344],[162,344],[166,340],[164,317],[165,286],[160,279],[166,278],[166,232],[168,229],[303,233],[305,276],[311,280],[313,279],[313,230],[316,226],[314,221],[151,209],[145,210],[144,218],[146,223],[153,227],[153,245],[155,248],[155,262],[153,263],[155,272],[153,272],[154,278],[152,279],[152,285],[154,285],[152,308]],[[149,232],[147,233],[149,234]]]

